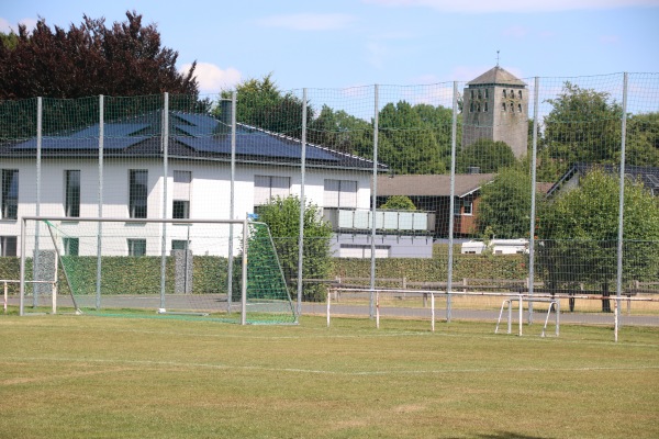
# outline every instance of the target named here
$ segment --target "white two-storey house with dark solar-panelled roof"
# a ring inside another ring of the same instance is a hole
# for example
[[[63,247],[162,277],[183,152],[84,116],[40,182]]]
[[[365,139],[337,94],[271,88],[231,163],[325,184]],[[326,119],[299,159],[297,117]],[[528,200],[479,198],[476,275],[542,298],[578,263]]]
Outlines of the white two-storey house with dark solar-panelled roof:
[[[221,121],[174,111],[167,117],[158,111],[105,122],[102,137],[100,128],[0,145],[2,256],[19,255],[23,216],[243,219],[271,196],[302,191],[302,147],[295,138],[238,124],[234,139]],[[371,160],[305,146],[304,196],[327,217],[333,211],[368,211],[372,173]],[[65,234],[86,236],[80,227],[77,222],[62,226]],[[119,229],[103,229],[103,235],[116,236],[115,255],[161,249],[158,224],[113,227]],[[370,251],[366,230],[357,241],[351,232],[347,244],[342,233],[333,239],[336,256],[355,255],[356,247]],[[186,243],[194,254],[217,249],[190,238],[186,227],[170,226],[166,239],[167,249],[186,248]],[[96,254],[93,240],[88,241],[68,239],[65,250]],[[31,252],[32,244],[26,246]],[[380,256],[389,256],[390,247],[380,245],[387,249]]]

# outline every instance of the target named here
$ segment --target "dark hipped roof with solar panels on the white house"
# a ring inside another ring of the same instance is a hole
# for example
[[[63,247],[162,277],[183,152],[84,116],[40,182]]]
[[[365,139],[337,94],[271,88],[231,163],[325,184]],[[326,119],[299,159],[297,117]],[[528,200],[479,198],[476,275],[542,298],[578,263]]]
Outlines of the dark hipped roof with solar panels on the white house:
[[[103,124],[105,157],[126,155],[161,156],[160,113],[148,113]],[[228,130],[208,114],[170,112],[168,156],[176,158],[231,158],[232,139]],[[94,157],[99,148],[99,125],[71,133],[44,136],[43,157]],[[36,150],[36,138],[0,146],[0,156],[25,157]],[[270,133],[245,124],[236,125],[236,160],[300,164],[301,142],[298,138]],[[306,164],[330,168],[372,169],[372,160],[339,153],[321,145],[306,144]],[[386,170],[384,165],[379,165]]]

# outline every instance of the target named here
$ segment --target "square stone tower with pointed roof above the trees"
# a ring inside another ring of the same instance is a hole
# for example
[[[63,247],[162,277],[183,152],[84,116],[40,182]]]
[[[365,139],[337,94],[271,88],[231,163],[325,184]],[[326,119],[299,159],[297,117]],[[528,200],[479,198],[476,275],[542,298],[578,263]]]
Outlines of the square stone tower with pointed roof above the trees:
[[[479,138],[505,142],[515,157],[528,143],[526,83],[496,66],[467,82],[462,97],[462,148]]]

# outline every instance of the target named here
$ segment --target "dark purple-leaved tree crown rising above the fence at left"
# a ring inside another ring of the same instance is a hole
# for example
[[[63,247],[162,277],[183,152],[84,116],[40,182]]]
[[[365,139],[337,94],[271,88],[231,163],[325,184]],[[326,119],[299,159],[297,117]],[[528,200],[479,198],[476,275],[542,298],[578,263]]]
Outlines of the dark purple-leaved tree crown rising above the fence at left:
[[[161,47],[155,24],[126,12],[127,21],[105,27],[104,19],[83,15],[68,30],[45,19],[29,33],[0,38],[0,99],[144,95],[168,91],[198,95],[196,64],[178,72],[178,53]]]

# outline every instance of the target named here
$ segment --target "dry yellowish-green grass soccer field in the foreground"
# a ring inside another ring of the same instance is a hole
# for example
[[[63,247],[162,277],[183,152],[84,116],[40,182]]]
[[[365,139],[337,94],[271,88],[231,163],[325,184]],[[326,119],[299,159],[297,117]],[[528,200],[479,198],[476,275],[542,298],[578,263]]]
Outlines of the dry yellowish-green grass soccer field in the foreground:
[[[659,328],[373,326],[0,315],[0,437],[659,437]]]

